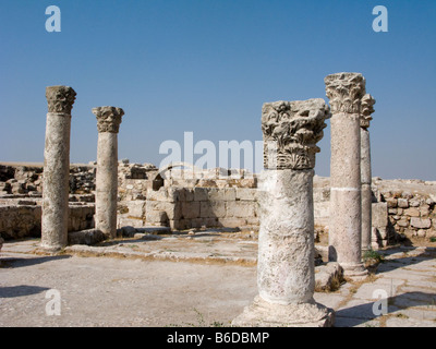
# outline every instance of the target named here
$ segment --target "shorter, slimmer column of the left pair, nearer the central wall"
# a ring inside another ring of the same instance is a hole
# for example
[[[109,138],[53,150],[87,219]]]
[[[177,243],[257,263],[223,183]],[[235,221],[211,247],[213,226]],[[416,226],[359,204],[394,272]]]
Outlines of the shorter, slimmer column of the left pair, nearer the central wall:
[[[124,111],[116,107],[93,108],[97,117],[97,171],[95,229],[117,237],[118,131]]]

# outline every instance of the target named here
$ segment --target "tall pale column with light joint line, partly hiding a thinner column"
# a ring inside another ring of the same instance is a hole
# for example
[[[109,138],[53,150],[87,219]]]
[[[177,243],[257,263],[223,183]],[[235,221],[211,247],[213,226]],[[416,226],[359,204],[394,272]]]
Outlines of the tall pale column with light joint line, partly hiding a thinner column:
[[[325,77],[331,107],[329,261],[346,275],[366,274],[362,263],[361,99],[365,79],[359,73]]]

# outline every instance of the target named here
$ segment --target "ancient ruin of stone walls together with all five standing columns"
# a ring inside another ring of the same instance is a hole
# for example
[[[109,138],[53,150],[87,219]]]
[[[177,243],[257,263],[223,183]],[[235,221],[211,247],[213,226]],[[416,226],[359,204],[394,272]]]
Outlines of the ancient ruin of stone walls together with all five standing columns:
[[[318,257],[325,270],[362,276],[365,251],[436,237],[436,182],[372,178],[375,99],[365,84],[362,74],[338,73],[325,77],[329,106],[320,98],[264,104],[261,173],[119,161],[124,111],[117,107],[92,110],[96,161],[70,164],[76,93],[47,87],[44,165],[0,164],[0,249],[3,240],[40,237],[38,253],[52,254],[149,227],[247,231],[258,245],[258,294],[232,324],[332,326],[332,310],[313,298]],[[331,173],[322,178],[314,167],[328,119]]]

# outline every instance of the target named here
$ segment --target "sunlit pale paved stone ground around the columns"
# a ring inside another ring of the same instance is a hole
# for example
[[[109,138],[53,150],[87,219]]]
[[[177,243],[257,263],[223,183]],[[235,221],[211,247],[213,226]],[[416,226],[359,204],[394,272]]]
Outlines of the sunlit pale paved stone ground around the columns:
[[[53,256],[36,254],[38,243],[3,244],[2,327],[229,326],[257,293],[250,237],[143,234]],[[385,260],[375,274],[315,293],[336,310],[335,326],[436,327],[436,249],[379,253]],[[59,291],[60,315],[46,313],[51,289]],[[374,314],[383,303],[387,312]]]

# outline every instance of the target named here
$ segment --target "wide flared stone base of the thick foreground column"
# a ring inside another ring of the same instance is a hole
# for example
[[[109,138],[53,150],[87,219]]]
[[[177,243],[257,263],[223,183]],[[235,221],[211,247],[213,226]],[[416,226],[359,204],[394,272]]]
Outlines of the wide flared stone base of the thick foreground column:
[[[335,312],[318,303],[275,304],[254,298],[251,305],[237,316],[233,327],[331,327]]]

